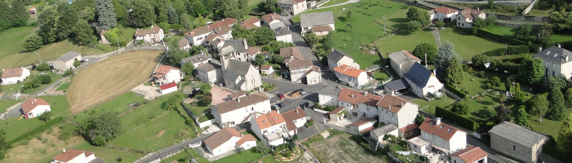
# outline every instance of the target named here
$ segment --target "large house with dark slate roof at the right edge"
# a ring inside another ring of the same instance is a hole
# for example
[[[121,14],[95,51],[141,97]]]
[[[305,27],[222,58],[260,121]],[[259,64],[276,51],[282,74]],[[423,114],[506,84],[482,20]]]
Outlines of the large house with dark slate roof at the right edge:
[[[562,76],[566,79],[572,77],[572,59],[569,59],[572,58],[572,52],[562,48],[560,44],[545,50],[540,47],[538,51],[534,58],[542,59],[545,76]]]

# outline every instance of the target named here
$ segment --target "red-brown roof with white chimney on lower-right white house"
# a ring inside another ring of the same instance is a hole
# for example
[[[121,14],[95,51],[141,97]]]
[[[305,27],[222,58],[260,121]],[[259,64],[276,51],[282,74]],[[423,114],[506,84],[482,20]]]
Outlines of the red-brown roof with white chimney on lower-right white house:
[[[456,132],[464,132],[460,129],[451,127],[450,125],[444,124],[441,122],[439,125],[436,124],[436,121],[430,118],[426,118],[423,123],[419,126],[419,129],[427,132],[428,134],[439,136],[444,140],[451,140],[451,138],[455,135]],[[451,129],[451,131],[449,131]],[[467,132],[464,132],[467,133]]]

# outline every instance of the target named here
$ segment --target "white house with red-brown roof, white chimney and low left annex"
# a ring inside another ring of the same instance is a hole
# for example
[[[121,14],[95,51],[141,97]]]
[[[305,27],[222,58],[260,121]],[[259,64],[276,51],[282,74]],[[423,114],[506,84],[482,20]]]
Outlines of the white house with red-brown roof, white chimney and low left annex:
[[[449,155],[467,146],[467,133],[442,123],[441,118],[426,118],[419,129],[420,136],[407,140],[415,152],[425,154],[434,149]]]

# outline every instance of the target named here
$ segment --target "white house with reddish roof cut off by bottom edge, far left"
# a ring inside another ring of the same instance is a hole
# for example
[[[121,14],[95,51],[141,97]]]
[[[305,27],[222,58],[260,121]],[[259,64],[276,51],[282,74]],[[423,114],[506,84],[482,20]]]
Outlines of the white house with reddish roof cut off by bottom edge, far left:
[[[56,163],[88,163],[97,157],[95,152],[70,148],[68,150],[63,149],[62,153],[53,158]]]

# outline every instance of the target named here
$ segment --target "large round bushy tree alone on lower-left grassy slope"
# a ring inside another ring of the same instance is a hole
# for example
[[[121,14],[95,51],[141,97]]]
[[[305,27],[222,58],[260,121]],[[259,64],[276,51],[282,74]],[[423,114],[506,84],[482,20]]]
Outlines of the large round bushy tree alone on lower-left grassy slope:
[[[102,146],[119,135],[121,122],[116,114],[104,111],[88,117],[80,128],[80,133],[88,137],[92,144]]]

